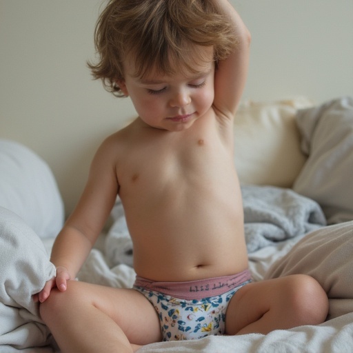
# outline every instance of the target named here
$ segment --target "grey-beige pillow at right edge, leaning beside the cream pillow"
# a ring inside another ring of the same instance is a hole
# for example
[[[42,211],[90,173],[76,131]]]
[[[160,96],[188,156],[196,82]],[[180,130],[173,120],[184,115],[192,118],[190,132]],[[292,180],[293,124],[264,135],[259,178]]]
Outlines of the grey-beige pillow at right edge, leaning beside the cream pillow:
[[[303,110],[296,119],[309,158],[294,191],[318,202],[327,223],[353,220],[353,99]]]

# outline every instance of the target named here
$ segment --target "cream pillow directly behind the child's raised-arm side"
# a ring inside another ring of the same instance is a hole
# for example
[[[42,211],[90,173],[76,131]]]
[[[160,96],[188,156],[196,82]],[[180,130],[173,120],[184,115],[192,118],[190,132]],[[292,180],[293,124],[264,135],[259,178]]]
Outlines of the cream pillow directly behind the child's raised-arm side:
[[[305,163],[295,123],[299,108],[312,106],[305,98],[247,103],[234,119],[236,170],[243,184],[290,188]]]

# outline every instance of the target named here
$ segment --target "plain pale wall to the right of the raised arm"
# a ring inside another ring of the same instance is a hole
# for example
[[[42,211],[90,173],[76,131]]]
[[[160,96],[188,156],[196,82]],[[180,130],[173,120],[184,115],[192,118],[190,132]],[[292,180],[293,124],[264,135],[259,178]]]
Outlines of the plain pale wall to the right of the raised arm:
[[[252,32],[255,100],[353,95],[352,0],[232,0]]]

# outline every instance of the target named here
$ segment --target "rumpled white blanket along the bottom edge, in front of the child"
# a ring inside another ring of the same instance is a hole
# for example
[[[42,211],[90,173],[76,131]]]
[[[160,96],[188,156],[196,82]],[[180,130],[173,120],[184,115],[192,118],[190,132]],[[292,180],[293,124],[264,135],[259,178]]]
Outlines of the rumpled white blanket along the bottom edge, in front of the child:
[[[242,336],[208,336],[197,341],[146,345],[139,353],[351,353],[353,313],[319,326],[302,326]],[[351,323],[351,325],[350,325]]]

